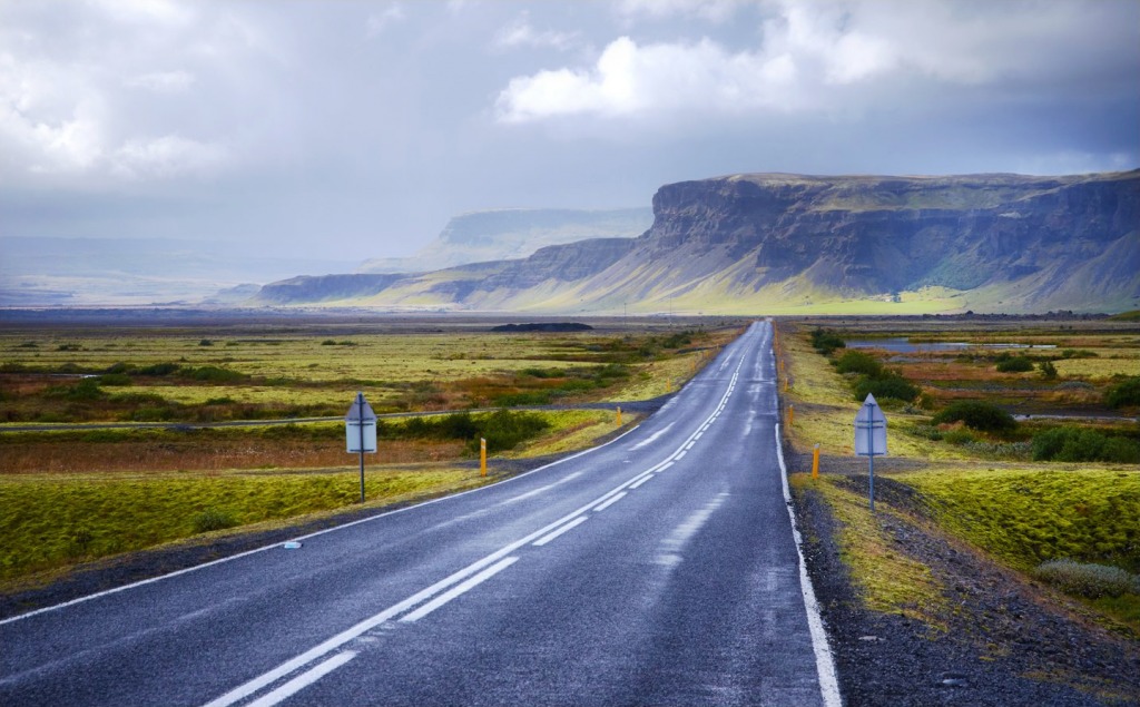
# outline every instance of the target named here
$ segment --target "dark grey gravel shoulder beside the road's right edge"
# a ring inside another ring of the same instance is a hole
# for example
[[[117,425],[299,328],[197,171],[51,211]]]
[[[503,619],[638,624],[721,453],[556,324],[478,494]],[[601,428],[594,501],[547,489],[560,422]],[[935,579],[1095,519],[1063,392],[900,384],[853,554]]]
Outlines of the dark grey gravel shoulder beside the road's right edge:
[[[865,474],[844,478],[866,494]],[[1140,705],[1140,641],[1097,625],[1081,606],[943,534],[917,493],[876,474],[876,501],[899,552],[944,587],[943,627],[862,606],[840,559],[838,521],[811,489],[793,495],[804,552],[848,707],[862,705]]]

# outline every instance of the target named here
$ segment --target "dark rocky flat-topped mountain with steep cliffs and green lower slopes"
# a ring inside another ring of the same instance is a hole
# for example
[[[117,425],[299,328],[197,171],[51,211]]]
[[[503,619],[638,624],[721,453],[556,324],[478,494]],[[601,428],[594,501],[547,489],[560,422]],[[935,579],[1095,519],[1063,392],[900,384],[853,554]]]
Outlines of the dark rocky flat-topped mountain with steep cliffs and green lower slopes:
[[[771,314],[1121,311],[1140,302],[1140,170],[735,174],[663,186],[653,214],[635,239],[383,283],[309,278],[311,296],[288,302]],[[267,285],[258,299],[283,303],[280,291]]]

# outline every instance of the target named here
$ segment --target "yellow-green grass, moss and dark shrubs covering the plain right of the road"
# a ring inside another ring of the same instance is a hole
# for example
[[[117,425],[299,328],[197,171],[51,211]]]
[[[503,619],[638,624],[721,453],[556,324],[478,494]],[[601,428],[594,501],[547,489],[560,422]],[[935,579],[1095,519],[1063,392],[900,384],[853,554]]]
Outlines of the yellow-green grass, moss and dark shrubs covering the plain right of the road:
[[[959,538],[1140,636],[1140,336],[1093,325],[878,326],[883,346],[862,327],[784,324],[780,339],[795,458],[811,458],[815,444],[824,453],[817,480],[803,461],[789,470],[799,472],[793,487],[820,494],[840,521],[865,604],[926,613],[937,628],[947,593],[890,542],[888,527],[910,523]],[[899,350],[899,340],[975,346]],[[874,515],[866,460],[853,448],[868,392],[889,429],[890,456],[876,462],[876,477],[917,493],[880,497]]]

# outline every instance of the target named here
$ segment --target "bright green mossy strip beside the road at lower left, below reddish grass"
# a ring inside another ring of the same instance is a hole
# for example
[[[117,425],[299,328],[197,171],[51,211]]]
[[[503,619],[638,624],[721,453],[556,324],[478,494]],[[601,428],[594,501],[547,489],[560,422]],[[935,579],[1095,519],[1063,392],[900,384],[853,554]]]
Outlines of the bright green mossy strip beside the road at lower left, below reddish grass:
[[[478,486],[478,470],[366,473],[370,503]],[[207,529],[353,504],[359,472],[0,477],[0,586],[32,572],[153,547]]]

